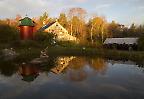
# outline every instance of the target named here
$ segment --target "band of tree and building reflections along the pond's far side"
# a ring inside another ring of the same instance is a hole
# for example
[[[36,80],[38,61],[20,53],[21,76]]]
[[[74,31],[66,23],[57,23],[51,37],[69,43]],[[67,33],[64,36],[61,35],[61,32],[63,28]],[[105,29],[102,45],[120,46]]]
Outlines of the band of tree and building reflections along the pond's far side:
[[[137,65],[137,63],[132,61],[114,61],[105,60],[102,58],[88,58],[88,57],[51,57],[45,64],[33,65],[30,63],[17,64],[14,62],[1,61],[0,62],[0,73],[1,75],[11,77],[13,74],[18,73],[22,77],[23,81],[32,82],[40,72],[55,74],[67,74],[67,77],[71,81],[83,81],[87,78],[87,73],[89,69],[105,75],[107,71],[108,63],[114,64],[129,64]],[[143,68],[142,64],[138,67]]]

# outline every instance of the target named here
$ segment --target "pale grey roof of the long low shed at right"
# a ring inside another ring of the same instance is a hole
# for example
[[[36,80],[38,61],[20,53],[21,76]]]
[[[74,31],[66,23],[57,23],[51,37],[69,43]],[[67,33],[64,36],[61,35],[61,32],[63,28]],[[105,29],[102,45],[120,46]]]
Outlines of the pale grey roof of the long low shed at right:
[[[104,44],[137,44],[138,38],[107,38]]]

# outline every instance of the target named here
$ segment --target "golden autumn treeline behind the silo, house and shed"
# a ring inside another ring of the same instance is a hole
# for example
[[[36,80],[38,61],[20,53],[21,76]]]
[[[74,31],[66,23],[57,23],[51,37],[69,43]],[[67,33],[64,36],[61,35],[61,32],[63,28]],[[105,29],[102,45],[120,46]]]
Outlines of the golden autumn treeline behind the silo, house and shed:
[[[51,18],[48,13],[45,12],[43,15],[32,19],[36,23],[36,29],[57,19],[58,22],[68,30],[69,34],[77,37],[82,44],[102,44],[108,37],[144,37],[144,24],[135,25],[133,23],[127,27],[115,21],[109,23],[103,16],[95,15],[89,19],[87,19],[86,16],[87,11],[84,9],[71,8],[65,13],[60,13],[57,18]],[[0,20],[0,24],[17,27],[21,18],[21,15],[17,15],[15,19]]]

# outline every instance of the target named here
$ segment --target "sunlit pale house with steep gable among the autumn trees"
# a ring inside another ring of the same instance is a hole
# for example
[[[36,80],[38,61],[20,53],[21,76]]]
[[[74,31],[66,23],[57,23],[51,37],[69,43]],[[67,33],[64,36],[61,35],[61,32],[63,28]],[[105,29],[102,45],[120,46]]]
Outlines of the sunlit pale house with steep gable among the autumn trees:
[[[68,34],[68,31],[58,21],[48,23],[40,28],[39,31],[53,33],[59,41],[76,41],[76,37]]]

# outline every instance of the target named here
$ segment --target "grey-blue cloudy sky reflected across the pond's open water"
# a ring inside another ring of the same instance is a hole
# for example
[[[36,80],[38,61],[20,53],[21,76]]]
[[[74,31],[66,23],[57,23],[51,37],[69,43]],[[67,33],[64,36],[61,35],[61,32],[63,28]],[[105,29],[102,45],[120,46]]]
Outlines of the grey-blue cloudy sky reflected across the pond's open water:
[[[144,73],[136,65],[107,64],[105,75],[99,74],[89,65],[84,70],[86,78],[72,81],[71,69],[65,74],[40,73],[30,83],[21,80],[18,74],[12,77],[0,75],[0,99],[95,99],[144,97]],[[113,97],[111,97],[113,96]]]

